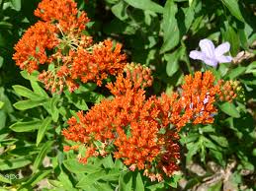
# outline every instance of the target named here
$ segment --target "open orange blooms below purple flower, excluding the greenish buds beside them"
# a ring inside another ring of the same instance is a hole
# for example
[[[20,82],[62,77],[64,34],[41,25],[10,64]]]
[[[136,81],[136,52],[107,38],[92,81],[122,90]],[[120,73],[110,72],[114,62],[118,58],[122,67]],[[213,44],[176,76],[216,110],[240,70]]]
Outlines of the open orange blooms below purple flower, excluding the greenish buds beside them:
[[[204,74],[196,72],[194,78],[186,76],[179,100],[184,109],[182,118],[194,124],[213,123],[213,114],[217,111],[213,103],[219,93],[219,86],[214,85],[214,76],[210,71]]]

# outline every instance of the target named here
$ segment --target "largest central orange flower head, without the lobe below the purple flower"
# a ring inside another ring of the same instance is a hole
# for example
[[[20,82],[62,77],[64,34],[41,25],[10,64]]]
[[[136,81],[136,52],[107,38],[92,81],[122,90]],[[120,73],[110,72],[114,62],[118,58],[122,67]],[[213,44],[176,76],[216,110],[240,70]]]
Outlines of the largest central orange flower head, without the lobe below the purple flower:
[[[168,110],[162,108],[163,101],[144,95],[144,88],[151,85],[145,83],[152,80],[150,70],[131,63],[125,71],[107,86],[114,98],[102,100],[85,114],[78,112],[79,120],[70,118],[62,134],[88,149],[80,158],[82,162],[95,153],[106,155],[94,144],[100,141],[105,148],[115,148],[114,157],[122,159],[130,170],[144,170],[151,180],[161,181],[179,169],[179,136],[175,129],[168,128]]]

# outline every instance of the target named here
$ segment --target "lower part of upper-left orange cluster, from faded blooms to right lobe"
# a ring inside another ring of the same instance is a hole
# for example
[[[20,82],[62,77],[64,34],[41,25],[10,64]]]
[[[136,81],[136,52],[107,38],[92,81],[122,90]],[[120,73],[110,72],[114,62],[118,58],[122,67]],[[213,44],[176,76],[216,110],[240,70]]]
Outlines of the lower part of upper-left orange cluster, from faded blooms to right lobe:
[[[48,60],[57,64],[53,70],[43,71],[39,76],[46,90],[61,93],[64,87],[68,87],[69,92],[73,92],[79,87],[78,80],[83,83],[96,82],[101,86],[109,75],[118,75],[123,71],[126,54],[121,53],[121,44],[113,48],[113,42],[105,40],[100,43],[100,49],[98,44],[89,46],[91,38],[84,38],[80,42],[81,46],[79,44],[77,49],[70,49],[68,55],[62,55],[61,49],[58,49],[50,56]],[[82,47],[87,45],[88,48]]]

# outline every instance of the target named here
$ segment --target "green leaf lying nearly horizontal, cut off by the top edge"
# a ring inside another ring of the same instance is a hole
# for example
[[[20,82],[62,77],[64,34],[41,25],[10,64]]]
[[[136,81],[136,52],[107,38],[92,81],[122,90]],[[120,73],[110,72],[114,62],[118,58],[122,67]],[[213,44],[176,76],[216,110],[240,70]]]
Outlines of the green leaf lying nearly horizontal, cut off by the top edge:
[[[163,7],[158,5],[157,3],[154,3],[151,0],[139,0],[139,1],[125,0],[125,1],[128,3],[128,5],[137,9],[149,10],[156,13],[163,13]]]

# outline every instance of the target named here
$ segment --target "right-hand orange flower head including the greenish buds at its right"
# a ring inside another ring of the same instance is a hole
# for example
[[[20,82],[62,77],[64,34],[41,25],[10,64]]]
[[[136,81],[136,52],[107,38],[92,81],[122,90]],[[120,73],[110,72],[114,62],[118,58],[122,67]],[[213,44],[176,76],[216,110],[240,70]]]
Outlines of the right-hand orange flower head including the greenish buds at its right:
[[[168,102],[169,105],[170,123],[178,131],[188,123],[213,123],[213,116],[217,113],[216,101],[231,102],[240,90],[237,82],[222,80],[215,82],[211,71],[187,75],[179,93],[170,97],[164,96],[164,102]]]

